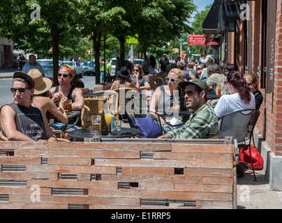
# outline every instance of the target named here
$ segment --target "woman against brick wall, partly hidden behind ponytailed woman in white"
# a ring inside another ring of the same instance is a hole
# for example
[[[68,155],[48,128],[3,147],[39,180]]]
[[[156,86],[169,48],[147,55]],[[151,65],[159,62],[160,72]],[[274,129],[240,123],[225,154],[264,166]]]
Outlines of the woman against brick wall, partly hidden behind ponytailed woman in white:
[[[253,72],[247,72],[246,74],[244,74],[244,78],[246,79],[246,82],[251,89],[251,93],[255,95],[255,109],[260,109],[260,105],[263,101],[263,95],[258,90],[258,78],[253,74]]]

